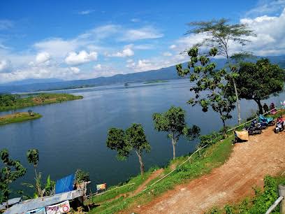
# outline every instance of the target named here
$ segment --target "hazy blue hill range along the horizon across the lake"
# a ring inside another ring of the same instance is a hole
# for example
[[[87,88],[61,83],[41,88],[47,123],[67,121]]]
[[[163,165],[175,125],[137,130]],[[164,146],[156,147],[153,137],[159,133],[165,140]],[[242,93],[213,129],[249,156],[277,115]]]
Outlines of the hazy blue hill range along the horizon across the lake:
[[[285,69],[285,56],[268,57],[274,64],[279,64]],[[225,59],[216,59],[217,67],[224,66]],[[187,64],[184,64],[187,66]],[[57,79],[29,79],[14,83],[0,85],[0,93],[15,93],[15,92],[36,92],[44,90],[63,90],[77,87],[92,87],[96,85],[111,85],[116,83],[136,83],[152,80],[170,80],[180,78],[177,76],[175,66],[170,66],[163,69],[144,71],[138,73],[117,74],[111,77],[99,77],[87,80],[68,80],[62,81]],[[28,84],[29,83],[29,84]]]

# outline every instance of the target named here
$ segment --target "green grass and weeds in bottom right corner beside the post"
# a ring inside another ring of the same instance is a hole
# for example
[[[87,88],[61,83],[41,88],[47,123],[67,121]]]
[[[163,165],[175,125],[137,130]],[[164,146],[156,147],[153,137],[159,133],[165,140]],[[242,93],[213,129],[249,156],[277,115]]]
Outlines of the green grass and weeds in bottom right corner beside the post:
[[[254,188],[254,197],[247,197],[238,204],[226,204],[224,208],[211,208],[208,214],[214,213],[265,213],[278,198],[278,185],[285,185],[285,176],[265,176],[264,190]],[[279,206],[272,213],[279,213]]]

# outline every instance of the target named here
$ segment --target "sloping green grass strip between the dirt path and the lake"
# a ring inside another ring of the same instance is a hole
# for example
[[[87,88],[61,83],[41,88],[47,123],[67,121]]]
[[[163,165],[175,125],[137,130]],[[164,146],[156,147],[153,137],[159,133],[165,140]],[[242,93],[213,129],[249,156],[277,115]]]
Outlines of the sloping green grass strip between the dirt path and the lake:
[[[163,192],[173,189],[175,185],[187,183],[189,180],[193,180],[194,178],[210,173],[212,169],[224,164],[231,155],[233,149],[232,141],[233,135],[229,136],[224,141],[217,141],[208,148],[201,150],[202,152],[200,154],[197,152],[192,156],[190,162],[180,166],[179,169],[171,173],[170,176],[164,178],[159,183],[156,183],[153,187],[149,187],[150,184],[154,183],[160,177],[152,180],[148,185],[147,191],[140,192],[136,196],[123,197],[119,196],[118,192],[117,194],[106,193],[105,196],[93,197],[92,201],[94,201],[94,204],[97,203],[100,204],[100,206],[93,208],[90,213],[117,213],[119,211],[126,211],[128,208],[152,201],[152,199]],[[177,166],[188,158],[189,156],[187,155],[184,157],[178,157],[174,161],[170,161],[168,166],[164,168],[163,175],[172,171],[173,165]],[[151,171],[148,171],[145,176],[149,176],[150,173]],[[138,182],[138,185],[136,184],[136,186],[133,187],[133,190],[135,190],[143,182],[141,179],[142,178],[140,178],[140,176],[137,176],[129,180],[128,183]],[[144,178],[144,180],[145,179],[147,178]],[[133,190],[122,190],[122,192],[124,191],[126,193]],[[110,201],[112,198],[113,200]]]

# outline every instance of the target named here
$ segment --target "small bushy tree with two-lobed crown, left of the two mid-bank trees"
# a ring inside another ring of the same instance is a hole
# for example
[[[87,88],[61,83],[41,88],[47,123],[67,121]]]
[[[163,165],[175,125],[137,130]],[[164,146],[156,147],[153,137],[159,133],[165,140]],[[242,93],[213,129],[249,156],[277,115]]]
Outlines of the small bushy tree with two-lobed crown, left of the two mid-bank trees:
[[[134,150],[140,162],[140,174],[144,173],[142,153],[149,152],[150,145],[141,124],[134,123],[126,131],[117,128],[109,129],[106,144],[111,150],[117,150],[118,159],[126,159]]]

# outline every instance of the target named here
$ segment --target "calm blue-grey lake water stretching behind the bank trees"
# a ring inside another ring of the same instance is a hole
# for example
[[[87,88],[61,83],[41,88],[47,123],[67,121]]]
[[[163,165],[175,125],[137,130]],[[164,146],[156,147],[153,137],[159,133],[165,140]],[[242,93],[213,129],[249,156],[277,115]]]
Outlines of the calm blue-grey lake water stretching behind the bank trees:
[[[141,123],[152,146],[150,153],[143,155],[145,168],[163,166],[172,158],[172,145],[166,133],[154,130],[152,113],[163,112],[170,106],[182,106],[187,111],[187,122],[200,127],[202,134],[221,129],[219,115],[209,110],[203,113],[199,106],[191,107],[186,102],[191,97],[189,80],[170,80],[168,83],[109,85],[82,90],[61,92],[82,95],[84,99],[61,104],[35,106],[32,109],[43,117],[27,122],[0,127],[0,148],[8,148],[10,156],[17,158],[28,168],[22,181],[34,183],[34,170],[27,163],[26,152],[37,148],[40,152],[38,171],[45,178],[50,174],[57,180],[76,169],[89,171],[92,187],[98,183],[115,185],[140,172],[135,154],[124,162],[116,159],[116,152],[106,148],[105,140],[110,127],[129,127]],[[59,92],[59,91],[57,91]],[[285,94],[270,98],[278,104]],[[241,101],[242,119],[256,111],[254,101]],[[14,111],[1,112],[0,115]],[[228,124],[236,124],[236,113]],[[177,144],[177,156],[193,152],[197,142],[181,139]]]

